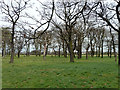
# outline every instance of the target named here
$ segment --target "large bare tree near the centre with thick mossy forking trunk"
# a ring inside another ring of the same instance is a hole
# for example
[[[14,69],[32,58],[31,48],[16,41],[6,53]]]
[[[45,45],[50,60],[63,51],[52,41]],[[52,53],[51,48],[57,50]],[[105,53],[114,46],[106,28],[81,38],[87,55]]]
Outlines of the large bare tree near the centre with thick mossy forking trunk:
[[[83,6],[80,7],[80,4]],[[64,31],[67,39],[64,37],[64,35],[62,35],[62,38],[67,44],[68,51],[70,53],[70,62],[74,62],[74,42],[72,40],[74,26],[77,19],[82,15],[81,13],[83,13],[85,5],[86,3],[83,2],[63,1],[58,3],[56,7],[56,16],[61,20],[61,22],[63,22],[65,27]],[[56,22],[53,22],[53,24],[60,30],[61,34],[63,34],[63,29],[58,24],[56,24]]]

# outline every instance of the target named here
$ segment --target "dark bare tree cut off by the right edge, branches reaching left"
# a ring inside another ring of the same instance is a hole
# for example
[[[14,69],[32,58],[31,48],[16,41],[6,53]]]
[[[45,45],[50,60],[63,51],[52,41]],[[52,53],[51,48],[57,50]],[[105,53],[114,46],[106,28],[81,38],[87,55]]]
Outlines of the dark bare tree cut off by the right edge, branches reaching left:
[[[114,31],[118,32],[118,53],[119,60],[118,64],[120,65],[120,1],[117,1],[115,4],[108,5],[104,1],[94,2],[93,6],[90,7],[90,4],[87,5],[90,12],[93,11],[98,17],[100,17],[108,26],[110,26]],[[98,10],[99,9],[99,10]],[[112,12],[112,13],[111,13]],[[116,17],[118,22],[116,22]],[[114,24],[113,24],[114,23]]]

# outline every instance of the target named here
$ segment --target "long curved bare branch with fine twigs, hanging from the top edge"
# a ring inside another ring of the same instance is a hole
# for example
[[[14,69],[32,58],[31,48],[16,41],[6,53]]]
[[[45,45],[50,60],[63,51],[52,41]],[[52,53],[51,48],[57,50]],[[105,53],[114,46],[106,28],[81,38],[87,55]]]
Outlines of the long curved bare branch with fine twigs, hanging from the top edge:
[[[35,15],[30,15],[28,13],[26,13],[26,17],[29,18],[31,21],[33,21],[34,23],[30,23],[30,22],[24,22],[26,23],[27,28],[29,28],[29,30],[33,31],[33,36],[31,37],[27,37],[29,40],[31,39],[37,39],[39,37],[41,37],[48,29],[54,14],[54,9],[55,9],[55,5],[54,5],[54,0],[52,0],[52,2],[48,2],[48,3],[41,3],[40,0],[37,0],[40,4],[40,6],[43,7],[43,9],[39,9],[39,7],[36,7],[36,14],[38,13],[39,17],[35,17]],[[43,28],[44,27],[44,28]],[[22,27],[24,28],[24,30],[27,30],[26,27]]]

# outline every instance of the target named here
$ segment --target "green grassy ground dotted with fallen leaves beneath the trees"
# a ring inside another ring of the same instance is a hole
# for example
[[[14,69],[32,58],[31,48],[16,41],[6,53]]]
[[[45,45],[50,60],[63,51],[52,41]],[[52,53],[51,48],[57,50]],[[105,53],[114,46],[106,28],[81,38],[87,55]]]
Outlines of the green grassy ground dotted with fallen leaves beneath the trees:
[[[118,65],[105,56],[85,60],[47,56],[15,58],[2,61],[3,88],[118,88]]]

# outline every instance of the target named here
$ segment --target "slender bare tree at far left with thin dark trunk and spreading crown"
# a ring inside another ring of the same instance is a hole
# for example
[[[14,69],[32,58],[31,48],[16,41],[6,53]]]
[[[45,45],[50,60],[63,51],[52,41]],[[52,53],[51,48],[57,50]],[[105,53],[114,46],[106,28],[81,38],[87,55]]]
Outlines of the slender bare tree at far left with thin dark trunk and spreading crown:
[[[23,3],[24,2],[24,3]],[[18,20],[21,17],[22,11],[26,8],[28,1],[10,1],[9,4],[2,0],[1,3],[1,11],[5,15],[5,18],[8,22],[11,23],[11,59],[10,63],[14,61],[14,34],[15,28]]]

